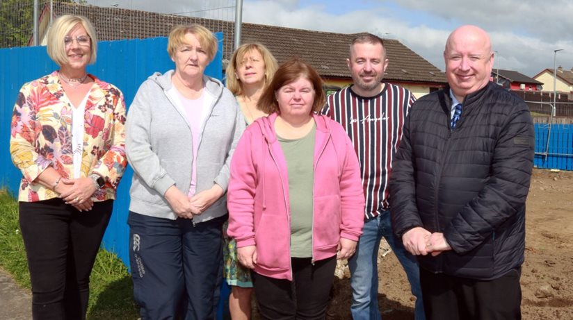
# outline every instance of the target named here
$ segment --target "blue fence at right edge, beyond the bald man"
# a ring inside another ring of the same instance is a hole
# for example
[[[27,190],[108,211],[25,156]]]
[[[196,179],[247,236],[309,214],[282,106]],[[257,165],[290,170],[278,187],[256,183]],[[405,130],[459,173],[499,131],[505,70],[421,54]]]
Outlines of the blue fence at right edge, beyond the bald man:
[[[549,128],[549,124],[535,124],[533,166],[573,170],[573,124],[552,124]]]

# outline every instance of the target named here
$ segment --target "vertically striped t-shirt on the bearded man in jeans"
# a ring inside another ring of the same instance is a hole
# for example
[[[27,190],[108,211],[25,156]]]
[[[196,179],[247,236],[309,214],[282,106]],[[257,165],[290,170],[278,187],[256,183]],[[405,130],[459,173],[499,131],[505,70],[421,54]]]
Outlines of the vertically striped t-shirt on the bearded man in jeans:
[[[389,209],[388,183],[392,159],[402,139],[402,126],[414,96],[398,85],[385,83],[376,96],[363,97],[352,86],[327,98],[323,114],[339,122],[360,160],[366,195],[366,219]]]

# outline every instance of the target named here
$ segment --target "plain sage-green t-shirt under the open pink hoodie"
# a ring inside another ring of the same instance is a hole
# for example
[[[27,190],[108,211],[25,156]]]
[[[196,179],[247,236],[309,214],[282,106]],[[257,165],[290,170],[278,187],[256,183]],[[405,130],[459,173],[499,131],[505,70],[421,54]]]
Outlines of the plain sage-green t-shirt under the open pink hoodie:
[[[316,125],[297,140],[277,137],[289,174],[291,205],[291,257],[312,257],[312,188],[314,186],[314,135]]]

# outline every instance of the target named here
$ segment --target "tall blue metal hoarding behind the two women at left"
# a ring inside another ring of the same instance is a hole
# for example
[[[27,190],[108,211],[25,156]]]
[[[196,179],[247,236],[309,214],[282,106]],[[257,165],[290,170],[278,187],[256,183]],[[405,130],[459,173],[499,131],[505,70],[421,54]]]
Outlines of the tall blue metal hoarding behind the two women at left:
[[[216,33],[219,48],[223,48],[223,33]],[[167,38],[156,37],[144,40],[120,40],[98,43],[97,62],[88,67],[88,72],[122,90],[129,108],[131,101],[145,79],[155,71],[161,73],[174,68],[167,53]],[[214,78],[223,76],[223,53],[218,51],[205,74]],[[40,78],[58,69],[46,53],[45,47],[0,49],[0,185],[8,186],[17,195],[22,174],[12,164],[10,153],[10,122],[18,91],[28,81]],[[129,267],[129,186],[133,171],[127,169],[118,187],[118,197],[113,205],[113,215],[104,235],[106,249],[118,253]]]

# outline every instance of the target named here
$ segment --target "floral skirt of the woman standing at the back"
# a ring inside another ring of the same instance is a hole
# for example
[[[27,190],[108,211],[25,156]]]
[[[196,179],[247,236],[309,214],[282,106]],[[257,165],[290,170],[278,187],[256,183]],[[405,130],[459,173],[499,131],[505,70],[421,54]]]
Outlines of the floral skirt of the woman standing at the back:
[[[251,271],[239,263],[236,255],[235,239],[227,235],[228,226],[229,222],[227,221],[223,225],[223,260],[225,262],[223,278],[227,280],[228,285],[252,288]]]

